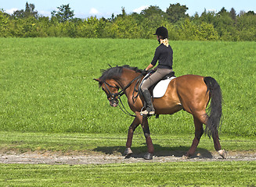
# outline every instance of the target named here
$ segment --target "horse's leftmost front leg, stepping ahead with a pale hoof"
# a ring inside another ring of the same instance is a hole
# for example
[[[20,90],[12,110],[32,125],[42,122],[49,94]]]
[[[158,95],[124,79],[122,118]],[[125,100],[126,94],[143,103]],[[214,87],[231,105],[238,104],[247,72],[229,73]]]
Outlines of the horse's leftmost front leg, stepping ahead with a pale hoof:
[[[132,154],[131,146],[132,146],[132,137],[133,137],[133,132],[135,132],[135,129],[139,126],[139,124],[142,123],[142,117],[140,114],[136,113],[136,117],[132,122],[132,125],[130,125],[128,129],[128,137],[126,141],[126,149],[124,150],[124,156],[127,156],[129,154]]]

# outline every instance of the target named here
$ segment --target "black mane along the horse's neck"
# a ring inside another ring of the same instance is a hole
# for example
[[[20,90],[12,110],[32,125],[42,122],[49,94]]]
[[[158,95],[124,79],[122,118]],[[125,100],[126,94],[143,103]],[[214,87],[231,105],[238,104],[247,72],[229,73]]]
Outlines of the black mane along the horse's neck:
[[[105,82],[106,79],[114,79],[119,76],[121,76],[123,69],[131,69],[135,72],[142,72],[142,69],[138,69],[137,67],[130,67],[129,65],[123,65],[123,66],[116,66],[114,68],[110,69],[102,69],[101,72],[103,73],[102,76],[99,77],[101,82]]]

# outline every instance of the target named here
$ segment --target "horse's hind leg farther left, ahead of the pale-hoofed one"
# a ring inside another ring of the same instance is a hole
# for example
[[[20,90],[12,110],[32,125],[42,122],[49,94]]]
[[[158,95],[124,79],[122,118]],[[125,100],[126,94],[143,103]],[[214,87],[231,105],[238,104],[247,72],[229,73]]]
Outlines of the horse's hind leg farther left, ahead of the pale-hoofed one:
[[[189,158],[197,150],[198,143],[200,142],[201,136],[204,134],[203,122],[201,122],[197,117],[193,116],[195,125],[195,138],[193,139],[192,146],[189,151],[184,155],[184,158]]]

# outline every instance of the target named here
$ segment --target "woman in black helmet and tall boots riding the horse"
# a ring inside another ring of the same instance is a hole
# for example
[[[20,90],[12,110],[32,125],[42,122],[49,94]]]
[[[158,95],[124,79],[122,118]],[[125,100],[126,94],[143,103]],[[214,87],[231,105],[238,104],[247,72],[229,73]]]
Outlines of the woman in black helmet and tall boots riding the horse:
[[[168,30],[164,26],[160,26],[159,28],[157,28],[156,34],[153,35],[157,35],[157,41],[160,45],[155,51],[152,62],[146,67],[146,69],[144,69],[143,72],[147,72],[148,70],[152,69],[157,64],[157,60],[158,65],[157,68],[154,69],[157,71],[154,72],[148,79],[146,79],[142,83],[141,90],[144,100],[146,101],[146,109],[144,111],[141,111],[141,115],[155,114],[155,109],[153,108],[153,104],[151,101],[151,94],[148,89],[154,83],[157,83],[164,76],[172,72],[173,51],[170,44],[168,43]]]

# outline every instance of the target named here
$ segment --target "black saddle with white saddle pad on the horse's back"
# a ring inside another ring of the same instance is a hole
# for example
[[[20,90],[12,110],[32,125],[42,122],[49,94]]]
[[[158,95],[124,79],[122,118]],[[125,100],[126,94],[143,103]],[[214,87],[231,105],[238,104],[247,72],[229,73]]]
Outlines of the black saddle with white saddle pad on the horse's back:
[[[141,90],[142,83],[146,79],[148,79],[152,74],[153,74],[153,71],[146,74],[146,76],[142,79],[142,82],[139,85],[139,94],[142,95],[142,90]],[[168,75],[166,75],[162,79],[160,79],[159,82],[150,86],[149,90],[150,90],[150,94],[152,95],[152,97],[153,98],[163,97],[168,88],[169,83],[171,82],[172,79],[175,79],[175,78],[176,78],[175,72],[170,72]]]

